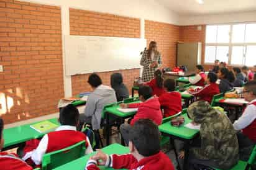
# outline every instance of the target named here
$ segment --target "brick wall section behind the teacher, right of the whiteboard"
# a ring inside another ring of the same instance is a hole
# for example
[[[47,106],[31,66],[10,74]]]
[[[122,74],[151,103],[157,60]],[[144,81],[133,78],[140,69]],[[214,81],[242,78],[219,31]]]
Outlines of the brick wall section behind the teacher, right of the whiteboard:
[[[163,67],[176,65],[176,42],[179,40],[179,27],[145,20],[145,38],[147,44],[154,40],[158,44],[158,50],[162,54]]]

